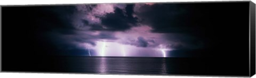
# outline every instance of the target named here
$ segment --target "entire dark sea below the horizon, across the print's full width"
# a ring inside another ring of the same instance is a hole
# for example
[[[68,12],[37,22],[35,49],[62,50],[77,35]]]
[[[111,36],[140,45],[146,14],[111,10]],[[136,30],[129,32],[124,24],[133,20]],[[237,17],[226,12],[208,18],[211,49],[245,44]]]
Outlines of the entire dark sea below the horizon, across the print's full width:
[[[13,59],[11,59],[13,58]],[[3,72],[127,74],[127,75],[249,75],[245,61],[220,57],[5,57]]]

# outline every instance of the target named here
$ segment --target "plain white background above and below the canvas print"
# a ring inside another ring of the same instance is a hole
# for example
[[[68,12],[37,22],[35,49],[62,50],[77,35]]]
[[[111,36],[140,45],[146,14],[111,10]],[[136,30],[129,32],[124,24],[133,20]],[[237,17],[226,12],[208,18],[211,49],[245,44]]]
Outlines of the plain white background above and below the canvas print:
[[[203,0],[207,1],[228,1],[228,0]],[[237,0],[233,0],[237,1]],[[0,5],[35,5],[35,4],[81,4],[81,3],[136,3],[136,2],[202,2],[202,0],[1,0]],[[256,3],[256,0],[252,0]],[[1,33],[1,32],[0,32]],[[1,43],[0,43],[1,44]],[[1,48],[0,48],[1,49]],[[1,66],[1,63],[0,63]],[[0,73],[1,78],[26,77],[26,78],[185,78],[185,77],[229,77],[229,76],[194,76],[194,75],[174,75],[174,76],[156,76],[156,75],[95,75],[95,74],[59,74],[59,73]],[[253,78],[256,78],[254,75]]]

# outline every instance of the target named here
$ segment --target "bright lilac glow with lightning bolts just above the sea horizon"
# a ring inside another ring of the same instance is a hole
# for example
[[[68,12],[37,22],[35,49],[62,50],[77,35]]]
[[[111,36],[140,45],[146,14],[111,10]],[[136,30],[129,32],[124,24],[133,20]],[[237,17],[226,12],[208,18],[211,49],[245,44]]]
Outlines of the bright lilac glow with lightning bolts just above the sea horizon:
[[[118,56],[118,57],[166,57],[164,48],[145,48],[120,44],[117,42],[97,41],[97,46],[91,47],[90,56]],[[93,54],[93,55],[92,55]]]

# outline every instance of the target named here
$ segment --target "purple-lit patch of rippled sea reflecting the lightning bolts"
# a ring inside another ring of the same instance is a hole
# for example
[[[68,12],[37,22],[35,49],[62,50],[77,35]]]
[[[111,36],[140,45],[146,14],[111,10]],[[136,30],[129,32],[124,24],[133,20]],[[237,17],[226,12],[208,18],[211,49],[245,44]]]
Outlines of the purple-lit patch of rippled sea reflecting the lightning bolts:
[[[95,67],[91,67],[91,71],[100,74],[167,74],[168,71],[165,59],[99,57],[98,60],[99,61],[95,61]],[[90,70],[90,68],[85,67],[85,70]]]

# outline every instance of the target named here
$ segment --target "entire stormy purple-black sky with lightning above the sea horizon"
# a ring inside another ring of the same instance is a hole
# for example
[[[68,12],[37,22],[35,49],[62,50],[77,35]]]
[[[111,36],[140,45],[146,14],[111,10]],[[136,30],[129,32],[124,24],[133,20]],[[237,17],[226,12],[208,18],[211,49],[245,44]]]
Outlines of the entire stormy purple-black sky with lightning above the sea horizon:
[[[29,55],[244,56],[248,4],[4,6],[3,40]]]

